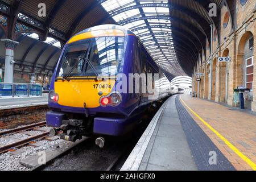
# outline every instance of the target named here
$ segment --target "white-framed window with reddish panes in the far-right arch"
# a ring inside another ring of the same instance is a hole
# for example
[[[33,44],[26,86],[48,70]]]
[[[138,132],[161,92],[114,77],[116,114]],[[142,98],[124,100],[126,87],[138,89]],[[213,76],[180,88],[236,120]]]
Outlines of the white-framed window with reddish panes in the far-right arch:
[[[246,64],[246,88],[253,90],[253,57],[249,57],[245,60]]]

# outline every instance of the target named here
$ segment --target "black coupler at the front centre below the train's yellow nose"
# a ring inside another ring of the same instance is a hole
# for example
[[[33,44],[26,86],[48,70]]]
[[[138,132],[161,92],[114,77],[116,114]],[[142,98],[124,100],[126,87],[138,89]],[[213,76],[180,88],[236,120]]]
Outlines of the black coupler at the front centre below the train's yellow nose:
[[[69,119],[63,120],[60,129],[63,130],[63,134],[60,135],[60,139],[76,142],[81,139],[85,133],[84,121]]]

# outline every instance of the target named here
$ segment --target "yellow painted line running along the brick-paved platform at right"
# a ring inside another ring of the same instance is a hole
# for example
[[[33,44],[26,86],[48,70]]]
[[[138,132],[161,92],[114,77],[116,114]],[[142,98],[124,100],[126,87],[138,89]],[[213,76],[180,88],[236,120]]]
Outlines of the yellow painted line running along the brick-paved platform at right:
[[[196,115],[197,118],[200,119],[201,122],[204,123],[204,125],[206,125],[210,130],[212,130],[212,132],[214,134],[217,135],[218,138],[220,138],[223,142],[225,142],[225,144],[231,149],[233,150],[238,156],[240,156],[240,158],[242,160],[244,160],[247,164],[249,164],[249,166],[256,171],[256,164],[254,162],[252,162],[249,158],[247,158],[247,156],[245,156],[241,151],[239,151],[235,146],[233,146],[232,143],[230,143],[225,137],[223,137],[220,133],[218,133],[217,130],[215,130],[212,126],[210,126],[206,121],[204,121],[203,118],[201,118],[198,114],[196,114],[195,111],[193,111],[187,104],[185,104],[185,102],[181,99],[180,97],[180,101],[183,103],[183,105],[185,105],[193,114]]]

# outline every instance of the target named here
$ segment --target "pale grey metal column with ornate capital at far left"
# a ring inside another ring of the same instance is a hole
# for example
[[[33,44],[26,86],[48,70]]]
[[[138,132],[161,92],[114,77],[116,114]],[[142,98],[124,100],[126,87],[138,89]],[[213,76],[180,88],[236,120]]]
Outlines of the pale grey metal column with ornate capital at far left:
[[[6,53],[5,53],[5,82],[13,83],[14,77],[14,48],[19,44],[10,39],[2,39],[5,43]]]

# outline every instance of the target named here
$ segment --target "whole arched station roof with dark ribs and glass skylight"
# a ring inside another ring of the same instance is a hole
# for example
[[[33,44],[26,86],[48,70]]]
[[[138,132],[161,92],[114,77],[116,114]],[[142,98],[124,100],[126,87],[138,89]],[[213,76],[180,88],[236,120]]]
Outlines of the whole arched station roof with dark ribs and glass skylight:
[[[39,16],[39,4],[46,16]],[[216,3],[217,17],[208,15]],[[220,9],[226,0],[0,0],[0,37],[19,42],[15,71],[52,75],[65,42],[78,32],[100,24],[119,24],[141,39],[169,80],[192,76],[210,45],[210,24],[219,39]],[[233,23],[233,11],[229,11]],[[5,47],[0,43],[0,68]]]

